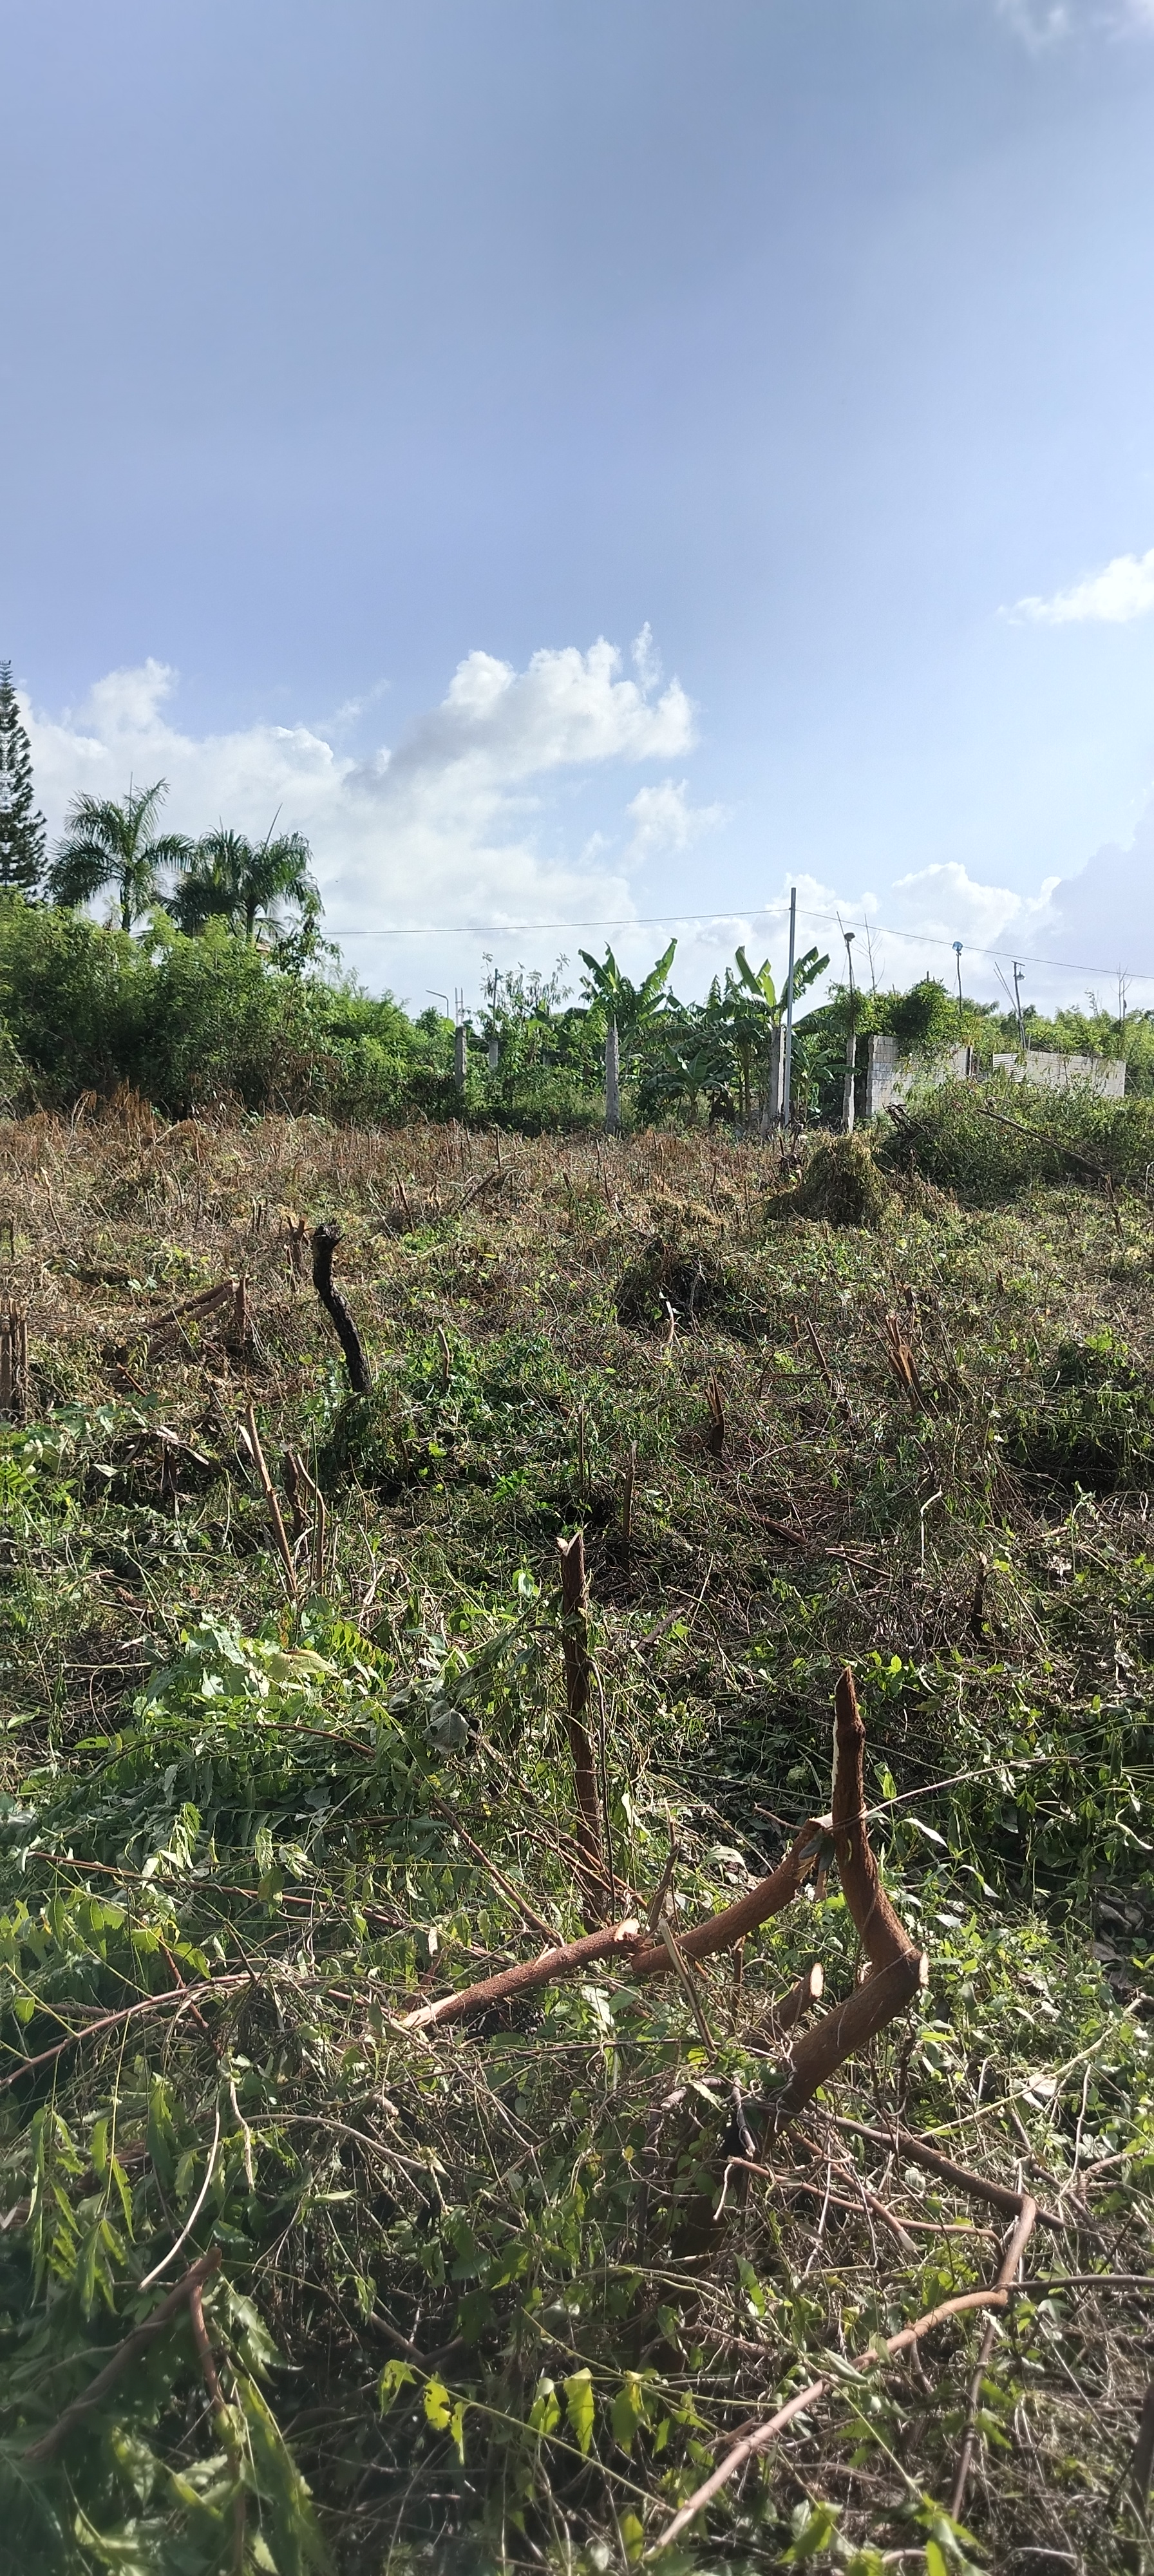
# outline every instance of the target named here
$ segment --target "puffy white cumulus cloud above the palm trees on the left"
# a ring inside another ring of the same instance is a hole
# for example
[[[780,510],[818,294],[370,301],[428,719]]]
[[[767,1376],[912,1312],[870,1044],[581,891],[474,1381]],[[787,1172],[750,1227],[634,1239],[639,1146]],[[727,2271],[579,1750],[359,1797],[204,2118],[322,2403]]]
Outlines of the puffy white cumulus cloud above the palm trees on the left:
[[[546,647],[520,672],[471,652],[440,706],[374,760],[353,760],[307,724],[185,734],[173,696],[175,672],[144,662],[108,672],[75,714],[28,711],[52,829],[77,791],[121,796],[129,775],[137,786],[167,778],[173,829],[203,832],[224,817],[258,835],[281,814],[312,840],[330,927],[374,979],[397,979],[386,925],[629,912],[626,858],[598,840],[577,860],[541,850],[544,788],[559,773],[675,760],[695,739],[690,698],[680,680],[659,685],[649,634],[634,677],[603,639],[587,652]]]

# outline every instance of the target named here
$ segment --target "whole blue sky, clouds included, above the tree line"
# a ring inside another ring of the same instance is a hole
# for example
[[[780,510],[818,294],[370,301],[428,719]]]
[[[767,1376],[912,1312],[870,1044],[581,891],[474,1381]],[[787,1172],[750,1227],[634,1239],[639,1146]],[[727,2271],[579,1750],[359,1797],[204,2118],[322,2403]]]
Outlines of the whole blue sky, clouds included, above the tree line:
[[[711,912],[703,989],[799,881],[878,976],[963,938],[969,989],[994,948],[1154,1007],[1146,0],[0,39],[0,654],[54,829],[129,775],[281,809],[417,1005]]]

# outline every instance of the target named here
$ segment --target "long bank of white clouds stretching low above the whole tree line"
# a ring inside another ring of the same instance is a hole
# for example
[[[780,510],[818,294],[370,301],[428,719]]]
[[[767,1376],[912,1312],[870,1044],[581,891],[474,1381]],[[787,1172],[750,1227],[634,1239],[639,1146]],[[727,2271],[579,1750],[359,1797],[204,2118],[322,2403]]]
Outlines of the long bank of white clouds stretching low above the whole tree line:
[[[636,662],[634,662],[636,670]],[[515,925],[556,922],[564,930],[515,935],[515,953],[549,963],[610,938],[629,974],[644,971],[670,933],[677,933],[675,984],[706,992],[742,940],[760,963],[768,953],[786,974],[788,884],[762,884],[765,902],[708,922],[639,922],[657,909],[631,889],[644,860],[670,860],[662,902],[708,909],[706,881],[675,868],[698,835],[726,819],[724,806],[693,806],[688,781],[657,775],[634,786],[623,806],[626,835],[608,842],[590,829],[574,855],[554,855],[551,786],[569,786],[598,770],[654,760],[680,760],[693,744],[693,708],[677,683],[662,688],[649,662],[641,677],[623,677],[608,644],[590,652],[549,649],[525,670],[492,654],[469,654],[438,708],[422,716],[394,752],[353,760],[325,732],[307,724],[258,724],[232,734],[180,732],[175,675],[160,662],[106,675],[77,714],[59,719],[28,711],[36,796],[59,832],[77,788],[121,796],[137,786],[170,781],[165,822],[201,832],[229,819],[247,832],[283,827],[309,835],[327,904],[327,927],[350,963],[379,989],[392,984],[415,1007],[430,974],[440,989],[464,981],[477,989],[482,940],[471,935],[420,935],[428,922]],[[649,878],[654,884],[654,878]],[[667,891],[665,891],[667,886]],[[837,914],[855,927],[855,971],[866,981],[909,984],[938,974],[953,984],[951,943],[963,940],[966,992],[997,997],[997,969],[981,951],[997,951],[1005,971],[1012,956],[1054,958],[1054,969],[1028,966],[1028,999],[1041,1007],[1079,999],[1097,979],[1102,994],[1118,966],[1149,981],[1133,984],[1133,1007],[1154,1007],[1154,799],[1133,842],[1102,848],[1069,878],[1046,878],[1015,891],[984,881],[963,866],[909,871],[891,884],[829,884],[796,871],[799,945],[817,943],[845,974]],[[714,896],[716,899],[716,896]],[[389,925],[407,927],[392,938]],[[868,935],[866,935],[868,925]],[[497,945],[500,940],[495,940]]]

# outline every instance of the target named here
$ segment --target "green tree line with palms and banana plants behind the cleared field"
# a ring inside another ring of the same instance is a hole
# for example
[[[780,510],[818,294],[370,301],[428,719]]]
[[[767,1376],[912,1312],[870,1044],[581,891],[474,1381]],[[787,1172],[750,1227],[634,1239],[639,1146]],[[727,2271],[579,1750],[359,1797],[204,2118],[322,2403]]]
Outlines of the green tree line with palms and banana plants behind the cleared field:
[[[363,994],[319,933],[322,899],[301,832],[219,824],[160,829],[165,781],[116,799],[77,796],[46,850],[28,734],[10,665],[0,665],[0,1095],[67,1103],[131,1082],[183,1115],[209,1100],[335,1118],[477,1115],[525,1131],[706,1118],[744,1131],[775,1115],[786,979],[744,948],[703,1002],[672,989],[677,940],[636,981],[610,948],[551,974],[484,958],[484,999],[456,1030]],[[85,914],[111,894],[113,917]],[[837,1118],[845,1038],[886,1030],[904,1056],[963,1041],[989,1061],[1017,1043],[997,1005],[948,994],[935,976],[904,992],[835,984],[809,948],[793,966],[793,1113]],[[1126,1054],[1128,1087],[1154,1090],[1154,1015],[1025,1010],[1033,1046]],[[863,1051],[860,1051],[863,1054]]]

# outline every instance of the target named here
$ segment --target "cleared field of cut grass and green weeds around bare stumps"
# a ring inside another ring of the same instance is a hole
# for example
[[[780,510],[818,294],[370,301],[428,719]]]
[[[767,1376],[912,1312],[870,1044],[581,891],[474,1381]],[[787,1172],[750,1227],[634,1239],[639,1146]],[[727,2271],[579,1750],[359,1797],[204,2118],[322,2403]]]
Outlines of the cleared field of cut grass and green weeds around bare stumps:
[[[835,1226],[703,1131],[0,1136],[0,2568],[1154,2568],[1141,1188],[858,1146]],[[860,1991],[832,1839],[683,1942],[829,1806],[845,1664],[930,1976],[786,2123],[775,2007]],[[407,2022],[649,1909],[667,1973]],[[1023,2280],[855,2367],[997,2280],[984,2182]]]

